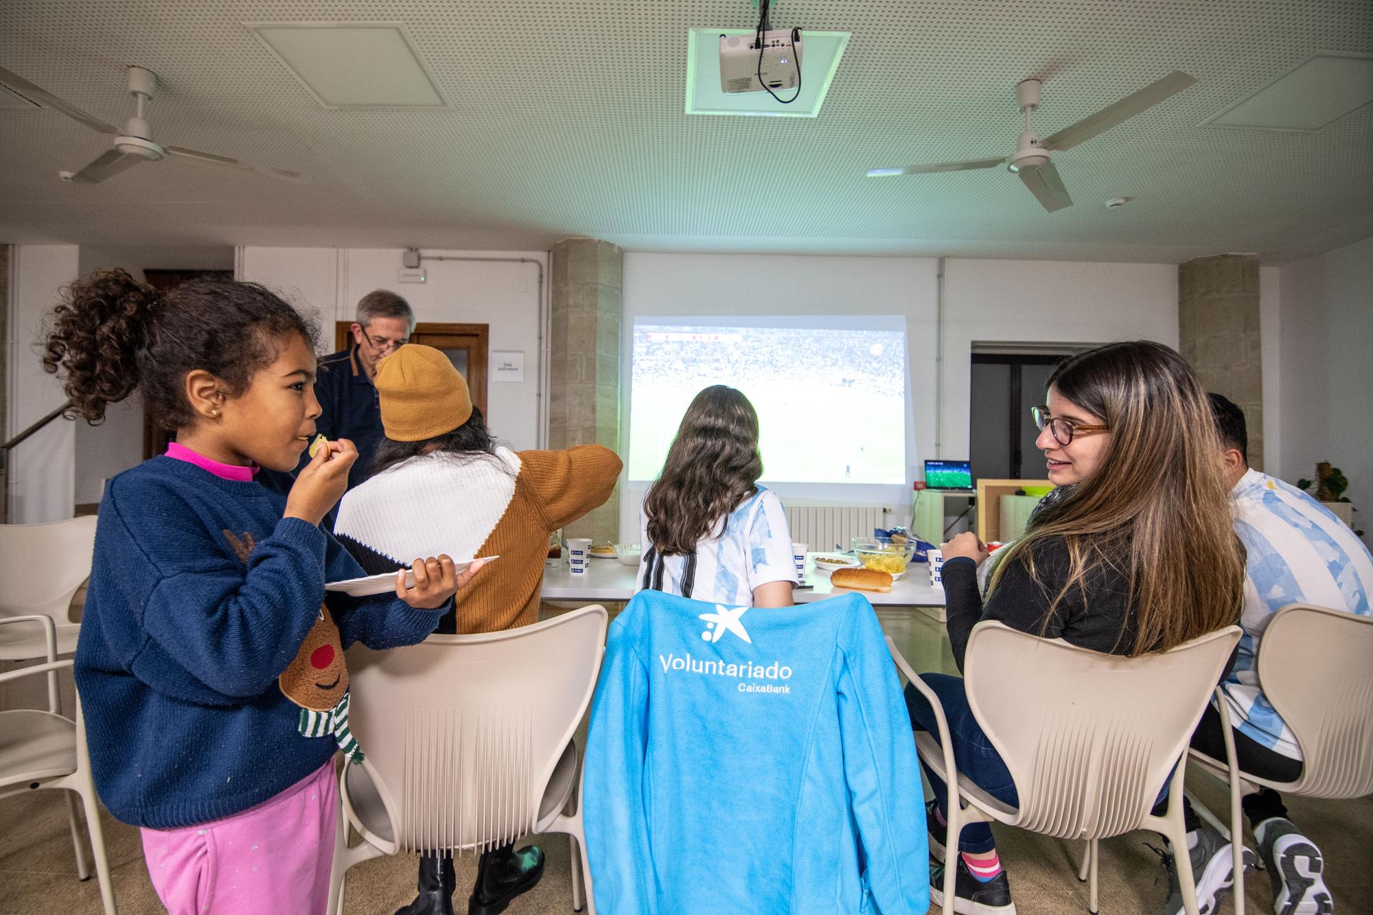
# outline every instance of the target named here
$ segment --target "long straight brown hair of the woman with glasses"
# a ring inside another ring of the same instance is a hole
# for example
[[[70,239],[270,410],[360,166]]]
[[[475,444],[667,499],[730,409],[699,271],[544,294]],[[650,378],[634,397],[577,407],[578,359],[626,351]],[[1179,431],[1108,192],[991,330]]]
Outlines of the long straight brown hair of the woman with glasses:
[[[1012,562],[1038,581],[1034,550],[1068,547],[1068,577],[1046,620],[1087,576],[1124,573],[1134,599],[1130,654],[1167,651],[1236,622],[1244,547],[1234,534],[1230,486],[1205,387],[1173,349],[1149,341],[1108,343],[1064,361],[1049,386],[1103,418],[1111,441],[1097,470],[1039,511],[997,566]]]

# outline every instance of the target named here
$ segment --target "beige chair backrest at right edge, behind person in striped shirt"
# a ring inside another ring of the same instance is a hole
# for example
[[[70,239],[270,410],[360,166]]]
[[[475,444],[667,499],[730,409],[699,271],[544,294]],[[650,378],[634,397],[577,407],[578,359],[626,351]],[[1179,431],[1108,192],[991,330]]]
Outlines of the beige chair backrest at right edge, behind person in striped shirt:
[[[1259,640],[1259,684],[1302,747],[1293,794],[1373,794],[1373,617],[1291,603]]]

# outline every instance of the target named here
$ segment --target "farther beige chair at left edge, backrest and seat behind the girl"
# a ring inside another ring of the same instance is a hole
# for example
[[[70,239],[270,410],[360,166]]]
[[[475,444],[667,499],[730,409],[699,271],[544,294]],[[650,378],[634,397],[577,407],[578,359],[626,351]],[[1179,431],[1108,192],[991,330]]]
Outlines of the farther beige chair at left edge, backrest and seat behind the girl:
[[[95,515],[49,525],[0,525],[0,620],[34,613],[52,617],[58,654],[77,650],[81,624],[71,621],[69,609],[91,577],[95,525]],[[43,637],[32,628],[0,629],[0,661],[44,654]],[[56,683],[56,675],[49,683]]]

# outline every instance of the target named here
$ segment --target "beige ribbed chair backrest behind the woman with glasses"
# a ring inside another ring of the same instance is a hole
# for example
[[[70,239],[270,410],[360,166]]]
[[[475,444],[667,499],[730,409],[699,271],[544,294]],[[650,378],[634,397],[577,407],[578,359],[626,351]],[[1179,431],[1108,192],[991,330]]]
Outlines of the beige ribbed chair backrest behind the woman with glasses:
[[[1240,640],[1227,626],[1137,658],[979,622],[968,702],[1019,794],[1017,826],[1059,838],[1135,828],[1186,749]]]

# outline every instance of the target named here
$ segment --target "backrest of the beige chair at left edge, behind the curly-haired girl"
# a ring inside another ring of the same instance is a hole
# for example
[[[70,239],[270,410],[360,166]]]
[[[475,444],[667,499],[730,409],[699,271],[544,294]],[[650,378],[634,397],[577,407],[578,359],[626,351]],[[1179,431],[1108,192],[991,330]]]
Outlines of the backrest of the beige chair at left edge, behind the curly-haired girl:
[[[70,622],[71,598],[91,577],[95,525],[95,515],[0,525],[0,615],[43,613]]]

